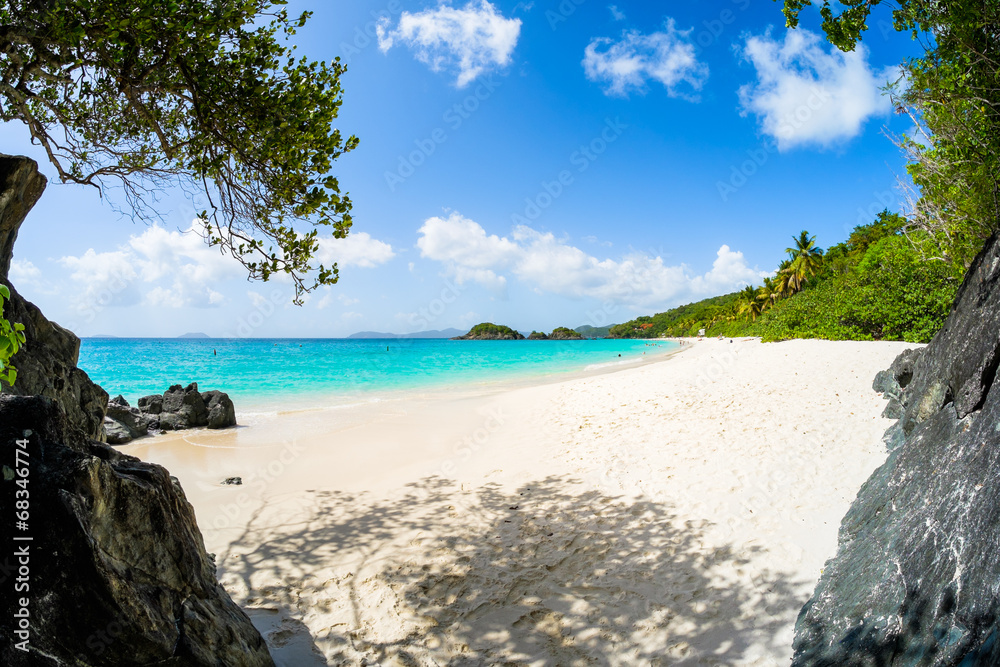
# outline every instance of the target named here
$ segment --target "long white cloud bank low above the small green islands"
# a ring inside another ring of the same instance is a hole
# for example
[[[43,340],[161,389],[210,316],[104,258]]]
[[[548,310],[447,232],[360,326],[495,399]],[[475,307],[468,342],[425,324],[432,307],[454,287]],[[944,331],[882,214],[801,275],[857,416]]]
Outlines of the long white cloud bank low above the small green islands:
[[[660,257],[636,253],[599,259],[526,226],[510,238],[489,235],[478,223],[452,213],[430,218],[420,228],[422,257],[441,262],[459,283],[490,289],[506,287],[506,275],[539,292],[571,298],[611,300],[634,307],[658,307],[683,298],[717,294],[759,281],[764,273],[746,265],[742,253],[719,249],[708,273],[690,276],[684,266],[667,266]]]

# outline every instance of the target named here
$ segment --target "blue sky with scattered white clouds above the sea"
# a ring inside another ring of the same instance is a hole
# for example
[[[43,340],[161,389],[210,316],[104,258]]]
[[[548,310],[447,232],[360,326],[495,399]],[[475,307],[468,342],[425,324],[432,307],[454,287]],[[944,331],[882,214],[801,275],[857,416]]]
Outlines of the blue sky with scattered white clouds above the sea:
[[[5,152],[49,175],[10,279],[81,336],[407,333],[483,321],[603,326],[760,284],[800,230],[821,247],[898,210],[912,123],[882,89],[918,55],[876,13],[841,53],[819,12],[772,0],[292,0],[299,53],[340,57],[333,174],[354,202],[325,239],[340,282],[291,303],[113,191],[62,185],[23,126]]]

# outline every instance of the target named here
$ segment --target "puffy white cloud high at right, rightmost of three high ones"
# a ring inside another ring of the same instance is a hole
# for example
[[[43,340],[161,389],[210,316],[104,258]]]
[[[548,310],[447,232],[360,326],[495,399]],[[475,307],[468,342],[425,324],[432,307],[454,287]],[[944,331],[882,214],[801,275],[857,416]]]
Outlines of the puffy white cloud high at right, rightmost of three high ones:
[[[873,71],[861,44],[844,53],[808,30],[747,37],[740,51],[757,81],[740,88],[743,114],[760,119],[779,150],[829,146],[861,133],[865,121],[892,106],[879,88],[898,78],[896,68]]]

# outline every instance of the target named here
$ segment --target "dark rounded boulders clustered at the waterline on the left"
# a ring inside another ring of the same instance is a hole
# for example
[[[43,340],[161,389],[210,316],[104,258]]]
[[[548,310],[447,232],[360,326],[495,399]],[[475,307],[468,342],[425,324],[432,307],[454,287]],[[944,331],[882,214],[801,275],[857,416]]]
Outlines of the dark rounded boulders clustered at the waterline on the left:
[[[221,391],[198,391],[198,383],[187,387],[175,384],[162,396],[143,396],[139,412],[148,428],[180,431],[188,428],[236,426],[236,407]]]

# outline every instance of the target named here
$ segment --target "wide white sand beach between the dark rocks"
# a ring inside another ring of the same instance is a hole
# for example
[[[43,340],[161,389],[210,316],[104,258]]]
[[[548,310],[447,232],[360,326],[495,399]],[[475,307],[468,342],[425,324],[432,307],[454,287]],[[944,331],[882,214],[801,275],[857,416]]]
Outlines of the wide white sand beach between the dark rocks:
[[[786,665],[908,347],[703,340],[121,449],[180,479],[282,665]]]

